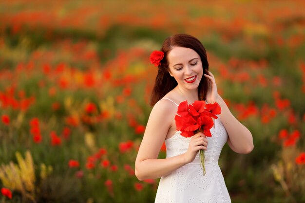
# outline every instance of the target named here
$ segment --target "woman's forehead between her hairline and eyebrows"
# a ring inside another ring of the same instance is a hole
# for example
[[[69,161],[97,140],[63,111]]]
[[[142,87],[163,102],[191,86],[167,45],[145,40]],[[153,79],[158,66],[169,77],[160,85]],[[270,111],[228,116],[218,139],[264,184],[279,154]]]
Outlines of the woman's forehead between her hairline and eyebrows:
[[[185,47],[173,47],[167,57],[170,65],[188,63],[193,58],[200,58],[197,52]]]

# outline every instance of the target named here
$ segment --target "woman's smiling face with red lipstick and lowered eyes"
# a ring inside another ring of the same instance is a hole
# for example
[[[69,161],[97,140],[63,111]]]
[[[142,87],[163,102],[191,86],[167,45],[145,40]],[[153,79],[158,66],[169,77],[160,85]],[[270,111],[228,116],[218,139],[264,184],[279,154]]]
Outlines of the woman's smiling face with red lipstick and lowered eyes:
[[[185,47],[173,47],[167,55],[169,72],[180,88],[197,89],[203,75],[200,56],[194,50]]]

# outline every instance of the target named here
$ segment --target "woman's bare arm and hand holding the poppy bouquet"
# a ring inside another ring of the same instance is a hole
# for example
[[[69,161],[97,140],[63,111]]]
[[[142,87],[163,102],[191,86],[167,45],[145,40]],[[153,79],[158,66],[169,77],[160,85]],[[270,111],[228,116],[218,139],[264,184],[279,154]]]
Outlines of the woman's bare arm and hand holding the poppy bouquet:
[[[171,127],[175,111],[175,106],[166,100],[160,100],[153,107],[135,160],[135,176],[140,181],[156,179],[170,174],[179,167],[193,161],[199,149],[206,149],[201,145],[205,144],[206,146],[207,140],[202,133],[198,133],[198,135],[192,137],[190,147],[186,153],[166,159],[158,159],[160,148]]]

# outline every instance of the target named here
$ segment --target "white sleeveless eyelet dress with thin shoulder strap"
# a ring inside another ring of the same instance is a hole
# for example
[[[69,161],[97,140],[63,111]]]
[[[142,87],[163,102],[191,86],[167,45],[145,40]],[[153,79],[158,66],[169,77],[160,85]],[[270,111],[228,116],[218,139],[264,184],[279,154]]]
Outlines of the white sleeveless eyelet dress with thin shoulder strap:
[[[218,165],[218,158],[227,142],[228,134],[219,116],[218,119],[214,119],[214,124],[215,128],[210,129],[212,136],[207,137],[206,174],[203,175],[198,153],[193,162],[161,177],[155,203],[231,203]],[[190,140],[191,137],[183,137],[180,131],[176,131],[171,138],[165,140],[166,157],[185,153]]]

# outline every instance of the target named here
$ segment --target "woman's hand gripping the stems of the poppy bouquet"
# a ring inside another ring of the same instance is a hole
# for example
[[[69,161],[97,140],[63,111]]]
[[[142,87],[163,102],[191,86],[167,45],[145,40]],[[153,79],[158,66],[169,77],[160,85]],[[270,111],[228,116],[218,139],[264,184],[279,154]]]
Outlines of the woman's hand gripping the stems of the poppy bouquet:
[[[207,150],[207,146],[208,146],[208,139],[202,132],[198,132],[197,134],[192,136],[190,140],[189,148],[187,152],[184,153],[186,164],[192,162],[195,159],[199,149]]]

